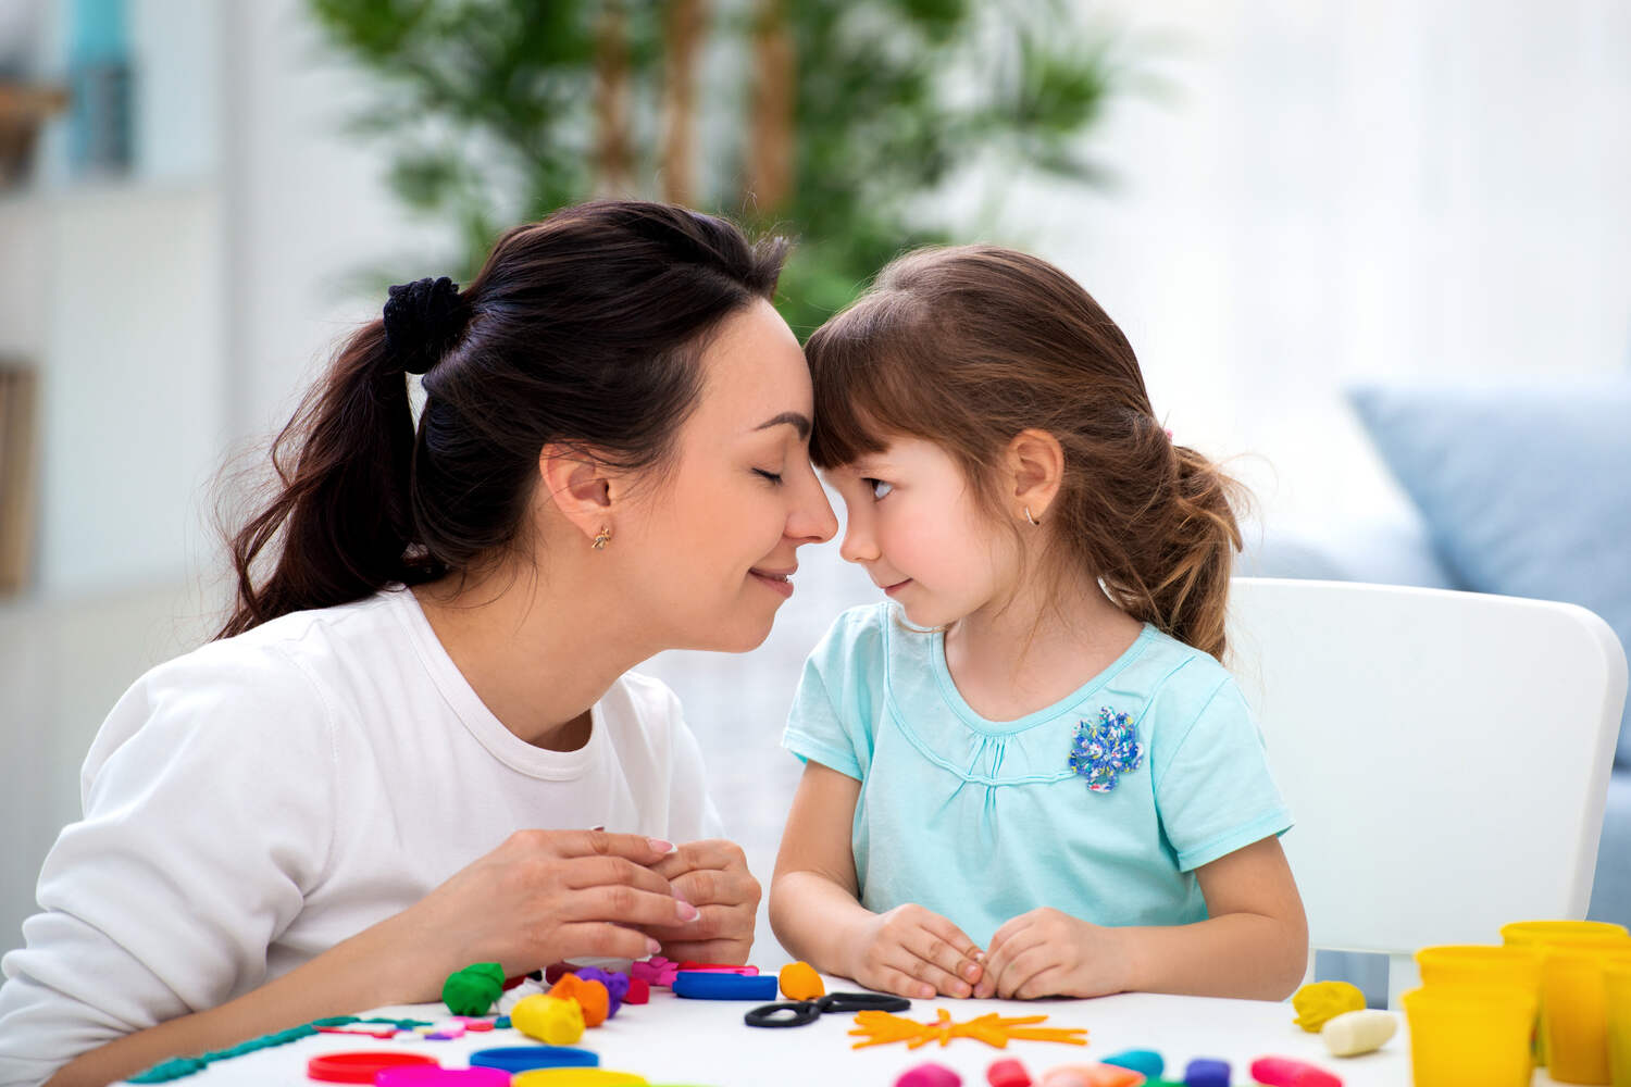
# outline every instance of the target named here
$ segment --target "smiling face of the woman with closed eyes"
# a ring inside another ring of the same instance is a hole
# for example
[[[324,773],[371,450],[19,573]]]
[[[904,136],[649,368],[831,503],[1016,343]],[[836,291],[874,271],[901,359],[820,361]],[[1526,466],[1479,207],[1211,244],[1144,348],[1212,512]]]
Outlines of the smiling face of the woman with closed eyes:
[[[613,546],[639,557],[631,590],[664,644],[744,652],[793,595],[798,549],[838,523],[809,461],[809,368],[775,308],[726,318],[701,368],[675,461]]]

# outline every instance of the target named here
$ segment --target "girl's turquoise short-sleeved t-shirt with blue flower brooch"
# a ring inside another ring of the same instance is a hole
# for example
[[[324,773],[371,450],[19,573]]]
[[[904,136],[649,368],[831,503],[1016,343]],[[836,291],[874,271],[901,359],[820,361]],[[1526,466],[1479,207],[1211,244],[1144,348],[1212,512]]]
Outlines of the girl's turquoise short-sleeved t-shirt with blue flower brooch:
[[[853,608],[806,662],[781,742],[861,782],[861,904],[918,903],[980,947],[1041,906],[1204,921],[1194,870],[1292,825],[1235,680],[1148,624],[1060,702],[997,722],[962,701],[943,634],[892,601]]]

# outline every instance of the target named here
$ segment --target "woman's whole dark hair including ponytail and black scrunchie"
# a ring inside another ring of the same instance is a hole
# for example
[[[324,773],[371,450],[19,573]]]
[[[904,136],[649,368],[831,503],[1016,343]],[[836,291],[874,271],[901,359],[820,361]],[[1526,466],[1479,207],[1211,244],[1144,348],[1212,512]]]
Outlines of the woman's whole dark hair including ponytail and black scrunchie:
[[[230,539],[238,596],[217,637],[512,548],[548,443],[662,468],[706,337],[771,297],[785,253],[711,215],[608,200],[511,230],[463,292],[393,287],[272,443],[279,491]],[[418,429],[408,373],[424,375]]]

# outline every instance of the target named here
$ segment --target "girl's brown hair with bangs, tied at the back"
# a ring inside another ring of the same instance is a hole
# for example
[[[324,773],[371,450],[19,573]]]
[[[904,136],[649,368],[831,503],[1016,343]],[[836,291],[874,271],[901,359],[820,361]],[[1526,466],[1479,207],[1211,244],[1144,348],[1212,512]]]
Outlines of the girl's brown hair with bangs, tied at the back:
[[[918,249],[816,329],[806,355],[817,466],[923,438],[1013,525],[992,466],[1021,430],[1045,430],[1065,451],[1047,557],[1088,570],[1135,619],[1223,657],[1241,546],[1230,497],[1243,492],[1173,443],[1127,337],[1073,279],[1013,249]]]

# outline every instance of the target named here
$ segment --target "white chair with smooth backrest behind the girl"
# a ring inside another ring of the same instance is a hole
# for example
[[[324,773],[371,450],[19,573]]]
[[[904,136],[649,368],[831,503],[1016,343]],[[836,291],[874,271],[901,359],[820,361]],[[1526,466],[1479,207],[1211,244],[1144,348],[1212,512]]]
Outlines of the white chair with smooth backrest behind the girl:
[[[1494,944],[1584,918],[1626,657],[1574,605],[1236,579],[1230,665],[1297,820],[1287,857],[1316,948]]]

